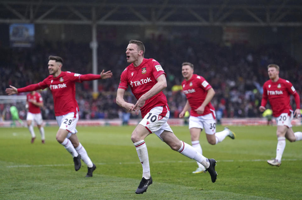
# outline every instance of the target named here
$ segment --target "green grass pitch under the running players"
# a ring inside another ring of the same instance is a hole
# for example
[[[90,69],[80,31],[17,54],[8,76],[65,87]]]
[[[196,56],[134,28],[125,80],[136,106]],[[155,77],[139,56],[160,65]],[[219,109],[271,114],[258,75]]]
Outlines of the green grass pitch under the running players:
[[[204,156],[218,161],[215,183],[209,173],[192,174],[195,161],[149,135],[153,184],[140,195],[135,190],[142,166],[130,139],[133,126],[77,127],[97,166],[91,178],[84,177],[83,161],[74,170],[72,156],[55,139],[58,127],[45,127],[45,144],[37,128],[34,144],[27,128],[0,128],[0,199],[302,199],[302,141],[287,140],[282,165],[272,167],[266,160],[276,155],[276,127],[230,128],[237,138],[226,137],[217,145],[208,144],[201,133]],[[172,129],[191,144],[187,126]]]

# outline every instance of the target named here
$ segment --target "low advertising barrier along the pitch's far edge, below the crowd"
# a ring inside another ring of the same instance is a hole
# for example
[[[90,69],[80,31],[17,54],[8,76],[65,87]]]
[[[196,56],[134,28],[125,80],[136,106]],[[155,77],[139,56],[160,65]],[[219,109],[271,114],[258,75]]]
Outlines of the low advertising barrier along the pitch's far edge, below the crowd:
[[[23,120],[26,126],[25,120]],[[140,122],[140,119],[130,119],[128,125],[136,126]],[[0,127],[10,127],[12,121],[0,121]],[[78,121],[77,126],[122,126],[121,119],[95,119],[86,120],[81,119]],[[170,118],[168,124],[171,126],[183,126],[185,125],[184,119],[180,118]],[[221,118],[221,125],[223,126],[251,126],[251,125],[266,125],[266,118]],[[272,119],[272,124],[276,125],[276,120]],[[295,118],[292,120],[293,126],[301,126],[301,118]],[[56,120],[44,120],[45,126],[58,126]],[[22,125],[16,121],[16,127],[21,127]]]

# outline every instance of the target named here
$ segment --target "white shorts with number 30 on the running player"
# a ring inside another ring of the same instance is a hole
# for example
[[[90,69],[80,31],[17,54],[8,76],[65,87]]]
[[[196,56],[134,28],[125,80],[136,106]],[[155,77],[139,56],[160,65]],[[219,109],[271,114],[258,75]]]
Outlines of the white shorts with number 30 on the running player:
[[[189,129],[199,128],[204,129],[206,134],[212,135],[216,133],[216,114],[212,113],[203,115],[203,116],[190,116],[189,117]]]

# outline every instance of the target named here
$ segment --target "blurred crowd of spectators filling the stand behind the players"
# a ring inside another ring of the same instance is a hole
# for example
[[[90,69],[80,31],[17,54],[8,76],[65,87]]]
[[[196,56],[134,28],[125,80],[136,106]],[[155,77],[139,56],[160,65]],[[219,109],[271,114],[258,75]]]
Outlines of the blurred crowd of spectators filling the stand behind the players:
[[[217,118],[260,117],[262,85],[268,80],[267,65],[280,66],[280,77],[293,83],[300,97],[302,85],[301,64],[295,61],[279,45],[262,45],[257,48],[249,44],[217,45],[202,40],[192,40],[183,35],[173,39],[147,40],[145,58],[157,60],[167,74],[168,87],[164,90],[171,109],[171,116],[177,118],[186,103],[181,91],[182,62],[194,64],[194,73],[204,78],[214,88],[216,94],[211,101]],[[123,110],[115,103],[116,90],[121,72],[128,65],[124,44],[102,41],[98,44],[98,72],[111,70],[110,80],[98,82],[98,96],[93,96],[92,82],[76,84],[76,99],[80,107],[80,119],[118,118]],[[63,71],[92,73],[92,50],[88,44],[75,42],[44,42],[35,48],[0,48],[1,88],[5,94],[9,85],[25,87],[38,83],[48,73],[48,56],[58,55],[64,59]],[[44,119],[54,119],[53,98],[48,89],[40,91],[44,100],[42,115]],[[20,94],[22,95],[22,94]],[[25,95],[25,94],[23,94]],[[127,102],[135,103],[131,92],[126,93]],[[293,97],[291,97],[293,98]],[[294,100],[292,99],[294,105]],[[16,103],[12,103],[16,104]],[[0,112],[4,119],[10,119],[9,107],[1,104]],[[25,118],[25,102],[16,104],[20,118]],[[295,108],[295,106],[294,106]],[[131,118],[140,118],[131,114]]]

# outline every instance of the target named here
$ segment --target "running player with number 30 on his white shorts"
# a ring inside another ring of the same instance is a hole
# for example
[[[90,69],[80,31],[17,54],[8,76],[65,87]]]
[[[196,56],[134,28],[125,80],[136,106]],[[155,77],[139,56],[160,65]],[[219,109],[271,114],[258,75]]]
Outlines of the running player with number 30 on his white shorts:
[[[187,110],[191,107],[189,117],[189,130],[191,134],[192,146],[202,154],[202,148],[199,144],[200,132],[204,129],[208,142],[215,145],[222,142],[226,136],[235,139],[235,134],[227,127],[216,133],[216,114],[211,100],[215,95],[212,86],[204,77],[193,74],[194,66],[192,63],[182,63],[182,76],[185,78],[182,82],[183,93],[187,97],[187,103],[179,117],[183,118]],[[193,174],[201,173],[205,170],[204,166],[198,163],[198,168]]]

